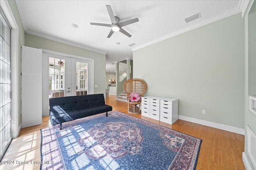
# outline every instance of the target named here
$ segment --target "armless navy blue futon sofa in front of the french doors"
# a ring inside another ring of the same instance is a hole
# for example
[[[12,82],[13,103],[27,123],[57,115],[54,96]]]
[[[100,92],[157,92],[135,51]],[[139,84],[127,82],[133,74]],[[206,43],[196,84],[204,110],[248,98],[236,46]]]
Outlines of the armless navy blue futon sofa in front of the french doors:
[[[67,96],[50,98],[50,121],[52,125],[112,111],[112,106],[105,104],[103,94],[90,94],[83,96]]]

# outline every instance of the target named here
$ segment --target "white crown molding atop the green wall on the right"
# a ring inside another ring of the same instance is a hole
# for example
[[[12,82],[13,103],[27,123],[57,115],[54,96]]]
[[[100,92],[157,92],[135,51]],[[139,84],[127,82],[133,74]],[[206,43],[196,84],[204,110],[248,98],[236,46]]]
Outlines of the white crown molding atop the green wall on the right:
[[[148,42],[148,43],[145,43],[144,45],[140,45],[139,47],[133,48],[132,51],[136,51],[136,50],[138,50],[138,49],[141,49],[141,48],[147,47],[147,46],[149,46],[149,45],[152,45],[152,44],[154,44],[154,43],[158,43],[158,42],[163,41],[163,40],[165,40],[165,39],[174,37],[174,36],[176,36],[176,35],[180,35],[180,34],[185,33],[185,32],[187,32],[187,31],[191,31],[192,29],[196,29],[196,28],[198,28],[198,27],[202,27],[202,26],[204,26],[204,25],[207,25],[207,24],[209,24],[209,23],[212,23],[212,22],[221,20],[221,19],[223,19],[223,18],[232,16],[232,15],[234,15],[234,14],[238,14],[239,12],[241,12],[240,9],[234,8],[234,9],[232,9],[232,10],[229,10],[229,11],[225,12],[225,13],[222,13],[222,14],[220,14],[220,15],[214,16],[214,17],[212,17],[212,18],[210,18],[210,19],[208,19],[208,20],[206,20],[206,21],[202,21],[202,22],[200,22],[200,23],[196,23],[195,25],[191,25],[190,27],[186,27],[186,28],[181,29],[181,30],[179,30],[179,31],[176,31],[176,32],[174,32],[174,33],[170,33],[170,34],[165,35],[165,36],[163,36],[163,37],[154,39],[153,41],[150,41],[150,42]]]

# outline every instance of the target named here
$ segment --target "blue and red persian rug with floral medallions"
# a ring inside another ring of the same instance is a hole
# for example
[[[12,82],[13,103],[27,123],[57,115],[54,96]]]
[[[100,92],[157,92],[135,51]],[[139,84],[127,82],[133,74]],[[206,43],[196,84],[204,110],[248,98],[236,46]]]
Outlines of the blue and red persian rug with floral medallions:
[[[194,170],[202,142],[119,111],[41,135],[41,169],[52,170]]]

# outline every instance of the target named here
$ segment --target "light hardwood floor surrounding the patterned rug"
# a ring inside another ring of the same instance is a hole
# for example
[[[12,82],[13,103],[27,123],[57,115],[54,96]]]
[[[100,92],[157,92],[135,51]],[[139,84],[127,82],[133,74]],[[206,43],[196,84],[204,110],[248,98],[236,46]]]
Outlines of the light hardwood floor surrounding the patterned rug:
[[[245,170],[242,161],[244,152],[244,135],[178,120],[173,125],[156,121],[141,114],[130,114],[127,111],[127,103],[115,100],[110,95],[106,104],[113,107],[113,110],[121,111],[129,115],[151,121],[158,125],[186,133],[202,139],[196,170]],[[49,116],[42,118],[42,124],[22,128],[19,136],[12,140],[9,149],[2,160],[12,161],[13,164],[2,164],[0,170],[38,170],[39,164],[31,164],[31,161],[40,161],[40,129],[51,126]],[[20,162],[18,162],[20,161]],[[22,161],[28,161],[24,164]],[[20,163],[20,164],[19,164]]]

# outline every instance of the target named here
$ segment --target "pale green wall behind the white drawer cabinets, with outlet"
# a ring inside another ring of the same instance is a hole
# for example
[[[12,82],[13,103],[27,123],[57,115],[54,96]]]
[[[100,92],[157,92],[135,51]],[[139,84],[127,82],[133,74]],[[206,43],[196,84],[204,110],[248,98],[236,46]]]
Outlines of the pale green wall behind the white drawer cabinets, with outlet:
[[[134,51],[133,78],[178,98],[179,115],[244,129],[244,64],[239,13]]]

